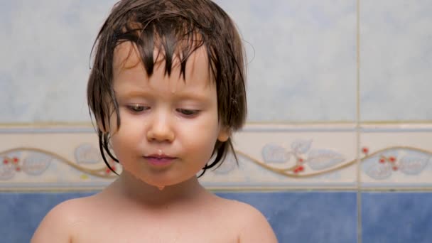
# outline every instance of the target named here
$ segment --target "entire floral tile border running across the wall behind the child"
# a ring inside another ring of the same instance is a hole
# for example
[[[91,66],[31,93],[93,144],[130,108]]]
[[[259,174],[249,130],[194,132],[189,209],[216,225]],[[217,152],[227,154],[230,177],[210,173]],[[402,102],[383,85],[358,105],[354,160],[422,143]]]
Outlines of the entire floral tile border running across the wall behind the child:
[[[212,190],[432,188],[432,125],[365,125],[360,140],[355,124],[249,124],[234,135],[238,165],[230,154],[200,180]],[[92,128],[0,128],[0,190],[98,190],[116,177]]]

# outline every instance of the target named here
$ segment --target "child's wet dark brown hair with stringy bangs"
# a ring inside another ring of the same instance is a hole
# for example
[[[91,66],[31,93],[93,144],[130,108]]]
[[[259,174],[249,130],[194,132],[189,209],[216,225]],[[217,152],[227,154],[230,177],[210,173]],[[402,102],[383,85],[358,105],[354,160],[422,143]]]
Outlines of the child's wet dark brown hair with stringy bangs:
[[[109,149],[109,119],[117,114],[117,128],[121,117],[113,89],[113,58],[117,45],[130,42],[138,50],[141,62],[150,77],[155,66],[153,50],[162,53],[165,74],[171,75],[173,59],[180,60],[180,75],[185,77],[188,57],[204,47],[209,59],[209,71],[217,90],[217,114],[222,127],[230,131],[240,129],[247,113],[245,91],[244,49],[237,28],[220,6],[210,0],[122,0],[114,5],[93,45],[93,65],[87,84],[90,114],[97,121],[99,149],[107,161],[117,158]],[[186,82],[186,81],[185,81]],[[102,127],[101,127],[102,126]],[[217,141],[212,162],[202,168],[222,163],[234,149],[232,140]]]

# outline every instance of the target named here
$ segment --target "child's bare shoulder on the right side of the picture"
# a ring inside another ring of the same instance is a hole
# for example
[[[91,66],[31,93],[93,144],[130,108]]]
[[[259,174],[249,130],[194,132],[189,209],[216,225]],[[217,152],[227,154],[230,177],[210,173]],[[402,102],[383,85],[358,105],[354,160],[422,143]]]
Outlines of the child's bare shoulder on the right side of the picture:
[[[239,242],[278,242],[266,217],[257,208],[237,200],[222,200],[230,221],[238,225]]]

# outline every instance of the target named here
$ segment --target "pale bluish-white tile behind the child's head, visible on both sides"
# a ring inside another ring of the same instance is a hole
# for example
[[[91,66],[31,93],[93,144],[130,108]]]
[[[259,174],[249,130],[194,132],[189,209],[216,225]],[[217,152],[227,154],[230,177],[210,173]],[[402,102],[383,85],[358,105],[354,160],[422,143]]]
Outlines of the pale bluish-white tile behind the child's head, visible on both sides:
[[[0,123],[89,121],[90,50],[114,2],[25,0],[0,9],[8,18],[1,29],[13,30],[0,40]],[[247,49],[249,121],[355,119],[355,0],[217,3]]]

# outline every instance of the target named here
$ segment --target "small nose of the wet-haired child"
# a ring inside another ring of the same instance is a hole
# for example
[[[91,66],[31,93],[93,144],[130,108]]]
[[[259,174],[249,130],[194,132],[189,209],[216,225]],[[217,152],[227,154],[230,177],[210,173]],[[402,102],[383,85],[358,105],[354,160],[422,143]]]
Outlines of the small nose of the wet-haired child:
[[[175,134],[168,114],[154,114],[147,131],[148,141],[173,141]]]

